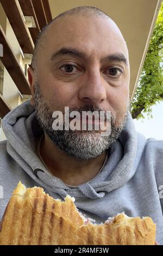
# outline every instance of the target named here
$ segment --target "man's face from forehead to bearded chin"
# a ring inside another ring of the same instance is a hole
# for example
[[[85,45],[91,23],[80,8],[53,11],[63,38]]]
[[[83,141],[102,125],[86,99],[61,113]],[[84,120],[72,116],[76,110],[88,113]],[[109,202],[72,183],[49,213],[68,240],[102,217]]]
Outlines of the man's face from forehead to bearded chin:
[[[95,158],[110,147],[123,129],[129,102],[129,76],[127,47],[112,21],[82,16],[58,19],[49,27],[46,42],[39,51],[36,83],[39,90],[35,92],[37,118],[40,123],[45,121],[42,127],[46,132],[45,124],[52,123],[45,119],[52,117],[54,111],[64,113],[65,106],[72,110],[89,111],[93,108],[111,111],[112,128],[116,129],[116,135],[110,142],[108,137],[102,139],[99,132],[83,133],[82,138],[82,133],[69,131],[65,137],[63,132],[60,133],[60,139],[64,138],[64,145],[61,145],[56,141],[59,134],[47,131],[52,141],[67,154],[83,160],[86,157]],[[65,144],[67,135],[69,142]],[[75,141],[74,137],[76,142],[81,138],[80,149],[75,148],[72,142],[70,145],[72,138]],[[91,139],[92,145],[87,149],[89,152],[85,149],[85,153],[82,153],[81,147],[89,144]],[[93,155],[93,145],[95,147],[97,141],[101,143]],[[71,147],[74,147],[73,153]],[[67,151],[66,148],[71,149]],[[78,154],[74,151],[78,151]]]

